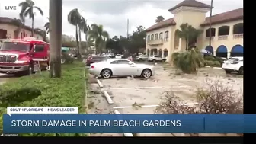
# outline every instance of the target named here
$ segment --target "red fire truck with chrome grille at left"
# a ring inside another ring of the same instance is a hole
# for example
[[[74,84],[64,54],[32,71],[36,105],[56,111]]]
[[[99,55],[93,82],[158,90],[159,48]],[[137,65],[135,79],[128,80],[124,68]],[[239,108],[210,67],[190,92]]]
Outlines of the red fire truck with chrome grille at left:
[[[50,44],[35,37],[0,40],[0,73],[30,75],[49,66]]]

